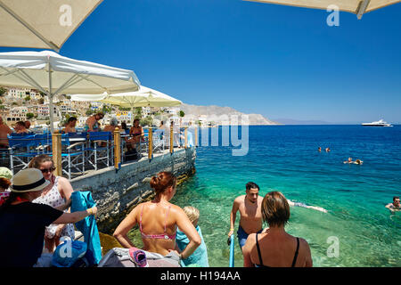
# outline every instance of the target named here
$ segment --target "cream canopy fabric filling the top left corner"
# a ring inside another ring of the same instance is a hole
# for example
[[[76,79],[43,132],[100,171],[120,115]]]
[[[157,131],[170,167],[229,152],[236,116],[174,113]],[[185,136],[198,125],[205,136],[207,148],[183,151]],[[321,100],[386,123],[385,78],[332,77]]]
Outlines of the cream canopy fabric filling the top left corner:
[[[0,45],[61,46],[102,0],[0,0]]]

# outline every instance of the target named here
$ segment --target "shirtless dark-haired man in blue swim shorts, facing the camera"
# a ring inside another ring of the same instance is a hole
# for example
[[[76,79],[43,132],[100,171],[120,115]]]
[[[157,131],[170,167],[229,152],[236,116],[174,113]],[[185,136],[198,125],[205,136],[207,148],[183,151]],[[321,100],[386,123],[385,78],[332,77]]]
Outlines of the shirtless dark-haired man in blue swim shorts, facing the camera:
[[[234,232],[234,224],[237,212],[240,211],[240,226],[237,236],[240,247],[245,245],[250,233],[262,232],[262,212],[260,210],[263,197],[259,197],[259,186],[250,182],[246,184],[246,194],[234,199],[233,209],[230,214],[230,238]]]

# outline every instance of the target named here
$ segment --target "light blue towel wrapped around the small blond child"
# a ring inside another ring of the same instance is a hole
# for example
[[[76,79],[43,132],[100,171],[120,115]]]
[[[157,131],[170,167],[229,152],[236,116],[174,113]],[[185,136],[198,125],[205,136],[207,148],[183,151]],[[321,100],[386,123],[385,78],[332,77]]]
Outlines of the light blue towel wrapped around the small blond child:
[[[186,259],[181,260],[181,265],[188,266],[188,265],[199,265],[201,267],[209,267],[209,260],[208,260],[208,248],[206,248],[205,240],[203,240],[201,228],[199,225],[195,227],[196,231],[201,236],[201,245],[195,249],[191,256],[188,256]],[[184,232],[181,232],[179,229],[176,231],[176,245],[180,248],[181,251],[188,245],[189,240],[186,237]]]

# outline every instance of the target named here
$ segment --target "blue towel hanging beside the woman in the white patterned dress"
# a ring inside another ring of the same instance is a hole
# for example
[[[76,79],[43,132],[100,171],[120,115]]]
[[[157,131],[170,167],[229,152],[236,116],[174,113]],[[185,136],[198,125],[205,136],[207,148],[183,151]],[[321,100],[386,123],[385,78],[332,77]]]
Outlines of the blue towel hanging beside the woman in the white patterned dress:
[[[85,211],[87,208],[94,207],[94,199],[90,191],[73,191],[71,194],[71,213]],[[78,231],[84,235],[87,248],[94,254],[94,261],[99,264],[102,259],[102,248],[94,216],[86,216],[85,219],[75,223]]]

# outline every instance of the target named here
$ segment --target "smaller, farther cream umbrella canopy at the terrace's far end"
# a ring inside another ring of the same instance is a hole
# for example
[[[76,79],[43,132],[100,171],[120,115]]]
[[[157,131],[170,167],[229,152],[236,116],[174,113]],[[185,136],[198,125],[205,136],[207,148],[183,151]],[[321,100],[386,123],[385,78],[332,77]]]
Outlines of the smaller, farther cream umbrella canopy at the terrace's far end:
[[[141,86],[136,92],[109,94],[101,102],[119,105],[125,108],[135,107],[173,107],[183,102],[157,90]]]

